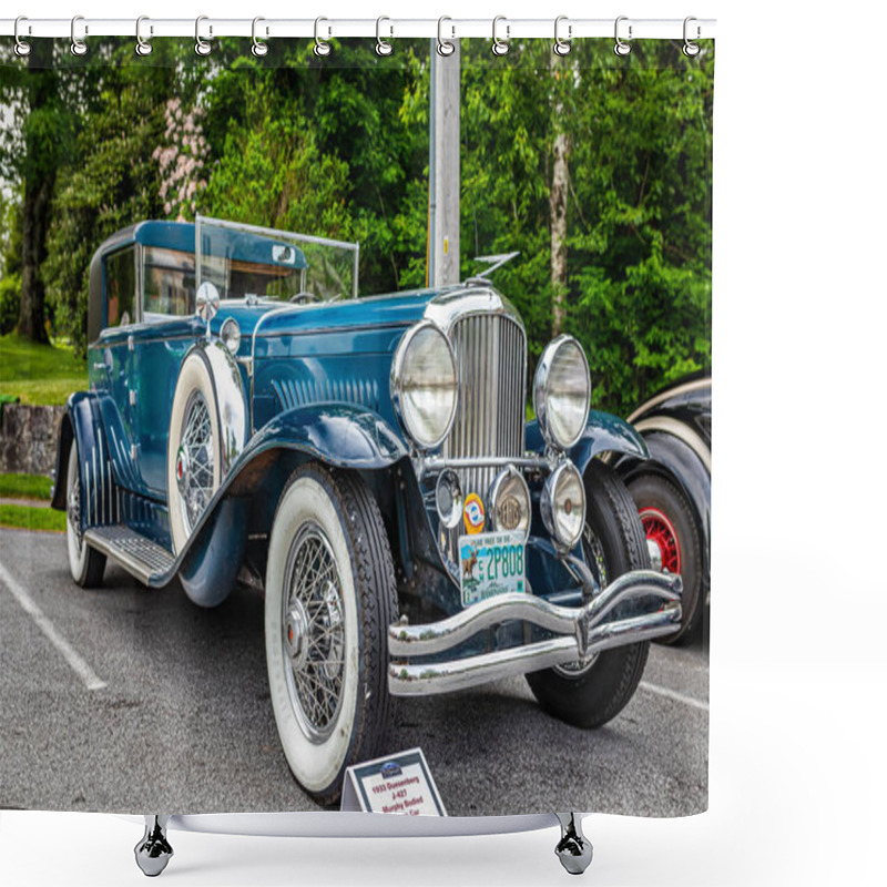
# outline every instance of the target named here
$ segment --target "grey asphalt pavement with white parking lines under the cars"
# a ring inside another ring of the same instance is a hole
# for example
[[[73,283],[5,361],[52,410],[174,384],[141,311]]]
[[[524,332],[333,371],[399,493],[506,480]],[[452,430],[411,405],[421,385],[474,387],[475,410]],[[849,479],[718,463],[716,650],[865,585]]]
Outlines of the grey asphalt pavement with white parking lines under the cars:
[[[111,562],[84,591],[63,536],[0,529],[0,807],[317,809],[277,738],[263,606],[238,589],[202,610]],[[707,700],[702,642],[654,644],[597,731],[544,714],[516,677],[399,701],[391,751],[422,748],[450,815],[680,816],[707,806]]]

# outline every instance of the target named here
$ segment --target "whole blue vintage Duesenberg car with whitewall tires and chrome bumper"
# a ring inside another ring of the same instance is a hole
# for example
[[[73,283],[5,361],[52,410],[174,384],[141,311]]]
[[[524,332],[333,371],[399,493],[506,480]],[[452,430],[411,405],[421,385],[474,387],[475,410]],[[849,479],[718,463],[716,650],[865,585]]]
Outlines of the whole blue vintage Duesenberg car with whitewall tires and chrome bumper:
[[[53,506],[71,573],[108,557],[201,606],[264,591],[271,699],[300,785],[397,750],[395,697],[526,673],[599,726],[681,578],[650,568],[589,411],[575,339],[544,349],[526,422],[518,313],[486,277],[357,297],[358,247],[210,218],[143,222],[90,269],[89,391],[61,426]]]

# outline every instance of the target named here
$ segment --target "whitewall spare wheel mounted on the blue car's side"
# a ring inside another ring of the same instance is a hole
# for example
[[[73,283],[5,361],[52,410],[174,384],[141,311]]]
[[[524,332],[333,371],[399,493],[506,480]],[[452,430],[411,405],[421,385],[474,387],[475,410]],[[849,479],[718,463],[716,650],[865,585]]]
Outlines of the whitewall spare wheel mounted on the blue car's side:
[[[215,386],[200,350],[182,363],[175,384],[166,445],[170,532],[177,553],[222,481],[221,434]]]

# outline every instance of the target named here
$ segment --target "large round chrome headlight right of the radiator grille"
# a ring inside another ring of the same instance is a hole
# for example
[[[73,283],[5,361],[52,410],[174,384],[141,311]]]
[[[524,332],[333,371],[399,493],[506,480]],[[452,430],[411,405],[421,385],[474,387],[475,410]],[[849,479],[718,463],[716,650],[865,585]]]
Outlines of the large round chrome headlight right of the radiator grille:
[[[585,353],[572,336],[558,336],[542,353],[533,381],[533,408],[546,441],[570,449],[582,436],[590,404]]]

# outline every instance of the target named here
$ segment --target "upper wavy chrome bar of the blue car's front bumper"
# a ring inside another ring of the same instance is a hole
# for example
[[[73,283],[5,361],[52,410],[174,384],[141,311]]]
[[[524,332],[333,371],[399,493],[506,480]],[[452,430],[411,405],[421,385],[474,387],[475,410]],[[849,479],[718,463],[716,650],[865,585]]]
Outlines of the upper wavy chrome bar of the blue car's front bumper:
[[[635,570],[614,579],[584,606],[559,606],[529,594],[497,594],[456,615],[425,625],[388,626],[388,654],[392,657],[430,656],[452,650],[479,631],[509,620],[521,620],[540,629],[570,635],[590,631],[618,604],[653,595],[665,603],[680,601],[681,577]]]

